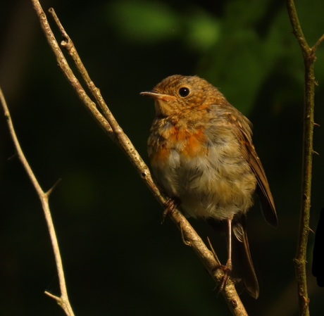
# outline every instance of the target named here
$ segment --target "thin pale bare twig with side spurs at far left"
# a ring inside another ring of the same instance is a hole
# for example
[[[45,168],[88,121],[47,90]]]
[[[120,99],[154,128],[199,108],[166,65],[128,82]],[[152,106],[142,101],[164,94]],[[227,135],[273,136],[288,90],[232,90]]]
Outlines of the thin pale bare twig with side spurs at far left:
[[[64,271],[63,271],[63,264],[61,259],[61,253],[60,248],[58,247],[58,241],[56,238],[56,232],[54,229],[54,223],[51,218],[51,210],[49,209],[49,195],[51,194],[51,191],[53,188],[49,189],[49,191],[45,192],[43,191],[42,187],[40,186],[39,182],[37,181],[37,178],[34,175],[34,172],[32,172],[32,168],[30,168],[29,163],[27,162],[27,159],[25,158],[25,155],[23,153],[22,148],[20,147],[18,137],[15,134],[15,129],[13,127],[13,122],[11,120],[11,115],[6,103],[6,99],[4,98],[4,94],[2,92],[2,89],[0,87],[0,101],[1,105],[4,108],[4,116],[8,123],[8,128],[11,134],[11,138],[13,139],[13,144],[15,145],[15,150],[17,151],[18,158],[20,162],[23,164],[23,167],[25,168],[28,177],[30,177],[30,180],[32,182],[32,185],[35,187],[35,190],[37,191],[37,195],[39,196],[39,199],[42,203],[42,208],[44,210],[44,215],[46,219],[46,224],[49,229],[49,236],[51,238],[51,244],[54,250],[54,256],[56,260],[56,268],[58,272],[58,280],[60,283],[60,290],[61,290],[61,296],[54,296],[50,295],[52,298],[55,298],[59,305],[62,306],[63,310],[66,312],[66,315],[68,316],[74,316],[73,310],[70,306],[70,302],[68,300],[68,291],[66,289],[66,280],[64,277]],[[47,293],[49,294],[49,293]]]

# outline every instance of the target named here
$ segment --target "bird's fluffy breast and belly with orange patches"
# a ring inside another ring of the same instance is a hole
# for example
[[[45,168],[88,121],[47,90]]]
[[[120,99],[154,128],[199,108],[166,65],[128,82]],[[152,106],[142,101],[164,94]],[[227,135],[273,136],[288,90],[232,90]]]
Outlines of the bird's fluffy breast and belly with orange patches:
[[[155,178],[187,215],[225,219],[251,207],[256,178],[229,129],[156,122],[148,147]]]

